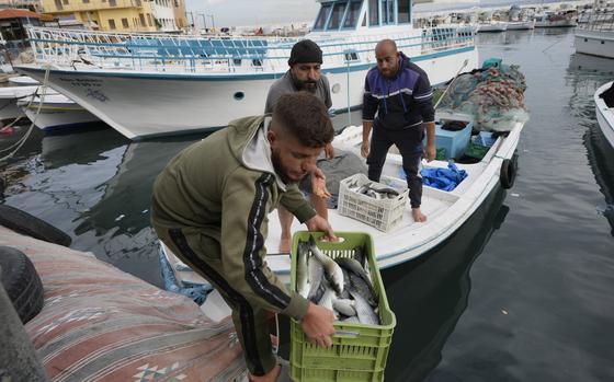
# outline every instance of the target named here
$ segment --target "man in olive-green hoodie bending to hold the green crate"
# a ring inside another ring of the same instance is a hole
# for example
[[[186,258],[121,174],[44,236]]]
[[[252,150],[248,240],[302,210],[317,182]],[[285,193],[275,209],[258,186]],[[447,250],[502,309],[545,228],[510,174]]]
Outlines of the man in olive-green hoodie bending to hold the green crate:
[[[280,374],[270,312],[299,320],[315,344],[332,344],[332,312],[286,289],[264,261],[264,242],[268,215],[278,205],[309,231],[336,240],[297,187],[333,136],[317,97],[286,94],[272,117],[234,120],[180,152],[154,185],[151,223],[158,236],[232,309],[252,381],[275,381]]]

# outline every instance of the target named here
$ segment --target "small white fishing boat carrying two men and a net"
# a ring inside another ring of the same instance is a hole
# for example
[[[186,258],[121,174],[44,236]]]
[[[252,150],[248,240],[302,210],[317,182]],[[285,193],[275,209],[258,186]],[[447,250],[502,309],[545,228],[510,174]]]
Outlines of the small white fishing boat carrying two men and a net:
[[[444,116],[440,113],[440,115]],[[450,118],[458,118],[451,115]],[[466,116],[462,117],[468,120]],[[501,177],[507,177],[514,170],[513,155],[524,123],[516,123],[507,137],[497,138],[486,157],[474,164],[457,163],[458,169],[468,174],[454,190],[444,192],[429,186],[423,187],[422,210],[428,216],[424,223],[416,223],[411,218],[409,204],[405,207],[402,223],[389,232],[379,231],[357,220],[341,216],[338,209],[329,210],[329,221],[333,229],[339,231],[367,232],[373,236],[375,253],[380,268],[388,268],[416,258],[434,248],[450,238],[474,213],[489,194],[499,186]],[[360,154],[362,142],[362,127],[351,126],[336,137],[333,146]],[[399,154],[389,153],[383,175],[393,183],[405,184],[398,178],[402,160]],[[424,164],[425,167],[447,167],[445,161],[433,161]],[[502,170],[503,169],[503,170]],[[515,169],[515,167],[514,167]],[[296,220],[292,227],[293,232],[305,230]],[[269,267],[285,282],[289,281],[291,261],[287,255],[275,255],[280,240],[280,221],[276,211],[269,216],[269,236],[265,242],[270,250],[266,257]],[[191,283],[206,283],[197,274],[184,266],[162,244],[162,251],[174,269],[179,280]]]

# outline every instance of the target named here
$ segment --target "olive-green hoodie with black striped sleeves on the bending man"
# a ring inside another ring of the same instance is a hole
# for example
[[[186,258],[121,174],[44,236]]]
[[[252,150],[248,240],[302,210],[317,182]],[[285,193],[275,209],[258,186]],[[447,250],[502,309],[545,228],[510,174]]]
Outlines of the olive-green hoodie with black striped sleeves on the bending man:
[[[234,120],[173,158],[154,184],[151,222],[213,239],[219,246],[201,247],[202,255],[221,262],[229,285],[252,305],[300,320],[308,301],[288,292],[264,261],[268,215],[282,204],[305,222],[316,211],[275,173],[269,120]]]

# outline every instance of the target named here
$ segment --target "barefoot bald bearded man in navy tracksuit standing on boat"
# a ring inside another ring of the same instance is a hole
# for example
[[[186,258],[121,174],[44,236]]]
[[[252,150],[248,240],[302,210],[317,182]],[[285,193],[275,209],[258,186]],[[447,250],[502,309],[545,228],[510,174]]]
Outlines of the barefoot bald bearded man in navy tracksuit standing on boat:
[[[372,68],[365,79],[361,153],[367,159],[368,178],[379,182],[388,149],[393,144],[399,149],[407,174],[411,215],[414,221],[423,222],[427,216],[420,211],[421,161],[424,154],[429,162],[435,159],[435,109],[431,83],[427,73],[399,53],[391,39],[377,43],[375,57],[377,67]],[[425,150],[422,147],[424,130]]]

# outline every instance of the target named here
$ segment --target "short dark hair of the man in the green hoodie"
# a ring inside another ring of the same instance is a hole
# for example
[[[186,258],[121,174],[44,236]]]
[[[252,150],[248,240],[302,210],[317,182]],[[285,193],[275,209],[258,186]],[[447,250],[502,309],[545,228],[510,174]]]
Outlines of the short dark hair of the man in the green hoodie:
[[[334,137],[325,104],[308,92],[282,95],[275,104],[273,119],[306,147],[325,147]]]

